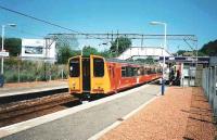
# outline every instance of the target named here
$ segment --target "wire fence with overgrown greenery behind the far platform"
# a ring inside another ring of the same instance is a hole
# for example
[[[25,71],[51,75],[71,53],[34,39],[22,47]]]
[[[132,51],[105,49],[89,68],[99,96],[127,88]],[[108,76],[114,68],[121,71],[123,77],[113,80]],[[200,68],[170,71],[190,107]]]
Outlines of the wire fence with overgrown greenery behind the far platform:
[[[67,78],[67,65],[46,61],[4,60],[4,82],[44,81]]]

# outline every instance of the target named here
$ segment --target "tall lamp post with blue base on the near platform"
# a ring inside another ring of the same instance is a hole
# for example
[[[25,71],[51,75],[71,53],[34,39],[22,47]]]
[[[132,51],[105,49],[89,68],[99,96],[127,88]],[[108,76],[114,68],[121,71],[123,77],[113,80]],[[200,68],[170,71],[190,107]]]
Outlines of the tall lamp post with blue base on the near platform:
[[[165,79],[164,79],[164,66],[165,66],[165,49],[166,49],[166,28],[167,28],[167,24],[163,23],[163,22],[151,22],[151,25],[163,25],[164,26],[164,48],[163,48],[163,75],[162,75],[162,96],[164,96],[164,91],[165,91]]]

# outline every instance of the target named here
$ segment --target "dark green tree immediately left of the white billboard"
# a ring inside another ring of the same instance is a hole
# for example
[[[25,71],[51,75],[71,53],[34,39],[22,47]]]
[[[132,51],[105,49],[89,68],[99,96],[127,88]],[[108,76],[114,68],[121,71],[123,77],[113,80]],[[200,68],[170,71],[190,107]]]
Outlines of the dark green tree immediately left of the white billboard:
[[[9,51],[11,56],[17,56],[21,54],[22,40],[21,38],[5,38],[4,50]]]

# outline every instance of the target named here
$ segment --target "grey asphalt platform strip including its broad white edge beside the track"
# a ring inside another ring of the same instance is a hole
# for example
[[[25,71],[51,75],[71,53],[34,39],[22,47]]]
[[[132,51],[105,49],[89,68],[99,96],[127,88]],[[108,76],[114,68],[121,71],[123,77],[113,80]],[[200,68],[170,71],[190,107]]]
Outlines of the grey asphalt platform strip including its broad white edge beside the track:
[[[3,140],[87,140],[156,98],[158,85],[144,85],[98,101],[0,128]]]

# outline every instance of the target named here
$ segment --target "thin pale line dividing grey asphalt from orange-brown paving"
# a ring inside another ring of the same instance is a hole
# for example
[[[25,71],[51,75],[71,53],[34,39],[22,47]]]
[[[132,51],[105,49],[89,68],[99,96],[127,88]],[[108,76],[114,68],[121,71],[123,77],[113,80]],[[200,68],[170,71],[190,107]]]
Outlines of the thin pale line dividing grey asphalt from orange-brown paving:
[[[159,92],[161,93],[161,92]],[[123,117],[124,120],[128,119],[129,117],[131,117],[132,115],[135,115],[136,113],[138,113],[140,110],[142,110],[143,107],[145,107],[148,104],[150,104],[151,102],[153,102],[156,98],[158,98],[159,93],[156,94],[156,97],[152,98],[151,100],[149,100],[148,102],[143,103],[142,105],[140,105],[138,109],[131,111],[129,114],[127,114],[126,116]],[[101,130],[100,132],[95,133],[94,136],[90,137],[88,140],[98,140],[100,139],[102,136],[104,136],[106,132],[108,132],[110,130],[114,129],[115,127],[117,127],[118,125],[120,125],[123,123],[123,120],[116,120],[115,123],[113,123],[111,126],[106,127],[105,129]]]

